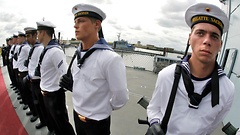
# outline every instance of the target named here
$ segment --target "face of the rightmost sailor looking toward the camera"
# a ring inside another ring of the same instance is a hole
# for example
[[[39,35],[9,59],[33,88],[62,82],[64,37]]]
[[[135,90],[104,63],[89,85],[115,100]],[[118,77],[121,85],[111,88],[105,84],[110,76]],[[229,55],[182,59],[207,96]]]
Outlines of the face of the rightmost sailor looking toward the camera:
[[[193,58],[203,63],[215,62],[222,47],[220,30],[209,23],[198,23],[189,34],[189,43]]]

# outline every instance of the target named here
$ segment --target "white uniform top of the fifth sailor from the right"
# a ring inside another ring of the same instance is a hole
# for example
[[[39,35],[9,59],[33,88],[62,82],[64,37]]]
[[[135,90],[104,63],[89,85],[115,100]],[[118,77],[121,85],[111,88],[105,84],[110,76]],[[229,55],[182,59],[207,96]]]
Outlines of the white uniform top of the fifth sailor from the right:
[[[25,60],[28,58],[29,51],[31,49],[28,43],[22,44],[21,52],[18,54],[17,68],[19,72],[28,71],[28,68],[24,66]],[[20,48],[19,48],[20,49]]]

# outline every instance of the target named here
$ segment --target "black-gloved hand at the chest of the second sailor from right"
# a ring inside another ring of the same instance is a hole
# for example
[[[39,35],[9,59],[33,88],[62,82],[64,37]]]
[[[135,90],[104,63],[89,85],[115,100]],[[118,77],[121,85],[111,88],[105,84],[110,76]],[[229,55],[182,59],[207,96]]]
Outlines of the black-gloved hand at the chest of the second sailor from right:
[[[69,91],[72,91],[72,87],[73,87],[72,74],[63,75],[60,79],[59,86]]]

